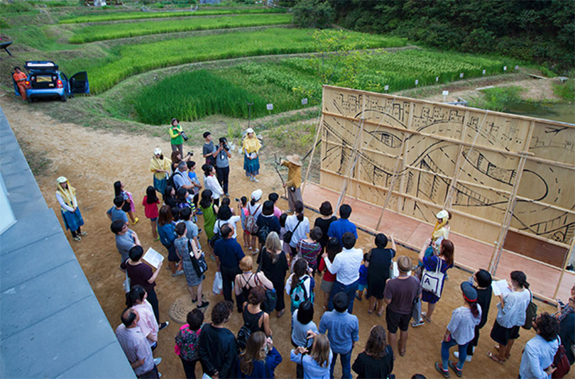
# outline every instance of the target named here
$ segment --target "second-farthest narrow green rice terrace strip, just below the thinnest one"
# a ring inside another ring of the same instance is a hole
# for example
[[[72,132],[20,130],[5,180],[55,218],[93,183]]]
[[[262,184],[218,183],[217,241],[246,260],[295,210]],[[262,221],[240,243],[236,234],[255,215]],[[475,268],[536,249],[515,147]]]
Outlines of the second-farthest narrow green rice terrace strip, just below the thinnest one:
[[[138,23],[109,23],[80,28],[70,38],[70,43],[87,43],[96,40],[136,37],[138,35],[200,31],[219,28],[242,28],[290,23],[292,15],[283,14],[241,14],[214,18],[183,18],[163,21],[141,21]]]

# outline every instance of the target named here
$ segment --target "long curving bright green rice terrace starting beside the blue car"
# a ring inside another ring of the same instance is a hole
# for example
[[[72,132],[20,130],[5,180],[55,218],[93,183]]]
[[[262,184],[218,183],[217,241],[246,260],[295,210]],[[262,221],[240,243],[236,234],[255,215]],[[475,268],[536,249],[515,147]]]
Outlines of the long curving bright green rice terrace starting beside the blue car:
[[[248,33],[227,33],[179,38],[158,43],[124,45],[100,59],[77,58],[62,64],[66,72],[83,68],[90,77],[93,94],[111,88],[122,79],[160,67],[189,62],[221,60],[255,55],[308,53],[314,51],[313,30],[270,28]],[[407,39],[347,32],[352,48],[385,48],[403,46]]]

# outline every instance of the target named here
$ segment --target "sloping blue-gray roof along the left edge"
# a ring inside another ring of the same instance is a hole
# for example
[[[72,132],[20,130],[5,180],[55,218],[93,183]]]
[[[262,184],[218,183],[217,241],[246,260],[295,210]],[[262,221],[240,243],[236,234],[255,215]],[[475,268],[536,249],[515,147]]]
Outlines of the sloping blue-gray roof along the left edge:
[[[1,108],[0,173],[0,378],[135,378]]]

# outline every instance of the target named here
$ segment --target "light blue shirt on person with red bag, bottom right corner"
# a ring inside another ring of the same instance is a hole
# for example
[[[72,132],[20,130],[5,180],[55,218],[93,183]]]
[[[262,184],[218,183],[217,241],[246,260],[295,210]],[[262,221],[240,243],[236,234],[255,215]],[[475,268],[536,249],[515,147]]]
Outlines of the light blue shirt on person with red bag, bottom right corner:
[[[553,363],[557,348],[559,348],[559,341],[557,341],[557,339],[550,342],[545,341],[539,334],[527,341],[519,366],[520,378],[551,378],[551,375],[547,375],[544,369]]]

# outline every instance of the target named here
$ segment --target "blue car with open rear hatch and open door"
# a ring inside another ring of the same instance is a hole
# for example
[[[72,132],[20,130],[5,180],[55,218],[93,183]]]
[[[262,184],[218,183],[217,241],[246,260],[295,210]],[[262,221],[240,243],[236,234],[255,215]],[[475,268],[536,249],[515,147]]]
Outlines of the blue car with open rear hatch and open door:
[[[50,60],[29,60],[24,68],[28,70],[26,97],[30,102],[40,97],[58,97],[66,101],[68,97],[74,97],[75,94],[89,94],[90,92],[88,75],[85,71],[77,72],[68,79],[65,73],[58,70],[58,66]],[[20,96],[16,82],[13,79],[12,82],[14,93]]]

